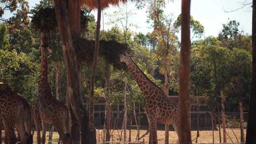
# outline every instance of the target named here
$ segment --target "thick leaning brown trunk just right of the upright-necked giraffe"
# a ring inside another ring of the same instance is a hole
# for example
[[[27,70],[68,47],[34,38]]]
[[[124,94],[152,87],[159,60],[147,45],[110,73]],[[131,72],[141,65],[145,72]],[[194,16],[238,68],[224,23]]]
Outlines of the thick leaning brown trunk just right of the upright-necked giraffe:
[[[77,69],[77,59],[73,47],[73,39],[66,14],[66,3],[64,0],[54,0],[55,13],[58,27],[61,35],[62,49],[64,55],[64,63],[67,72],[67,95],[68,102],[71,105],[71,113],[73,114],[73,124],[82,122],[82,105],[80,99],[79,74]],[[73,142],[80,141],[80,126],[72,126]]]

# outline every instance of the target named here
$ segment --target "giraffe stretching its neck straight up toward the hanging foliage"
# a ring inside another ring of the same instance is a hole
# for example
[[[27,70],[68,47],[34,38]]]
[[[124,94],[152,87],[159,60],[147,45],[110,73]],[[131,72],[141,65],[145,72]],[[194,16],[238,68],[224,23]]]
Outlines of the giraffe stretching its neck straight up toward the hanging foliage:
[[[37,129],[37,143],[46,142],[46,124],[53,124],[64,144],[71,144],[71,115],[68,108],[57,99],[53,98],[51,88],[47,79],[47,57],[46,50],[49,51],[46,33],[42,32],[41,45],[41,71],[38,84],[38,95],[33,106],[34,121]],[[42,140],[40,137],[39,123],[42,121]]]

